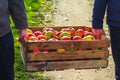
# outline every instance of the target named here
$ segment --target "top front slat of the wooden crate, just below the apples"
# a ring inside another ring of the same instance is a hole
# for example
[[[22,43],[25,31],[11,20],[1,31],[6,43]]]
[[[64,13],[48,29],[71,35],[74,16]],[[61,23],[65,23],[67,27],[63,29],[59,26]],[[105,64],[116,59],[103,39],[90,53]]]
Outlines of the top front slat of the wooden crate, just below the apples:
[[[54,44],[54,46],[53,46]],[[47,42],[27,42],[26,49],[58,49],[58,48],[104,48],[109,47],[108,40],[93,40],[93,41],[47,41]]]

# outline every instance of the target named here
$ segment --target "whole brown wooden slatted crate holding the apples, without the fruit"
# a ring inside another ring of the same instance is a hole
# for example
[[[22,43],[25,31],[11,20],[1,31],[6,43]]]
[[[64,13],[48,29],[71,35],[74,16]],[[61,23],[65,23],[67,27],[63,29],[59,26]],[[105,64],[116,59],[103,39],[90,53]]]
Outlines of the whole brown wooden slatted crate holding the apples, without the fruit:
[[[64,26],[71,27],[71,26]],[[82,28],[91,31],[90,27],[72,26],[75,29]],[[60,30],[63,26],[53,27]],[[30,27],[33,31],[42,30],[43,27]],[[44,41],[32,42],[25,40],[21,46],[21,56],[26,71],[51,71],[64,69],[91,69],[105,68],[108,66],[110,40],[92,41]],[[56,50],[61,48],[81,48],[77,51],[48,53],[33,53],[33,49]]]

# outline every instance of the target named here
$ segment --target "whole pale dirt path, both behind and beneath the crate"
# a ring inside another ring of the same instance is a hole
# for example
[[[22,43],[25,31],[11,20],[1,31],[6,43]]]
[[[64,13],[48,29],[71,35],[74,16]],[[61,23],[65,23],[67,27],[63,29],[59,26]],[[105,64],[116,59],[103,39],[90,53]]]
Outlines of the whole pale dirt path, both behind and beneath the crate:
[[[87,25],[91,26],[91,10],[89,0],[58,0],[55,25]],[[111,52],[110,52],[111,53]],[[109,65],[104,69],[63,70],[44,72],[51,80],[114,80],[112,56]]]

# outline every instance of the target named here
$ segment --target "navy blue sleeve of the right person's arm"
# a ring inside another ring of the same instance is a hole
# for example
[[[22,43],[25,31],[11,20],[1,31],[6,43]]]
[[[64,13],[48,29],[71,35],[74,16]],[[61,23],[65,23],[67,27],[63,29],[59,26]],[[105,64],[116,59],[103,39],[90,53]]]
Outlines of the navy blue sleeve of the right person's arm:
[[[103,29],[103,19],[108,0],[95,0],[92,14],[92,27]]]

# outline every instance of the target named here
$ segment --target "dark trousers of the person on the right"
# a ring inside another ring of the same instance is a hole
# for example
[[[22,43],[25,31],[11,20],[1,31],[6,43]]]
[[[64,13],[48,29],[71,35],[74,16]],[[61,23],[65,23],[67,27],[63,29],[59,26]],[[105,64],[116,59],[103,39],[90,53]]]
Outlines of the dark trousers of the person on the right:
[[[111,48],[115,63],[115,77],[120,80],[120,28],[110,26]]]

